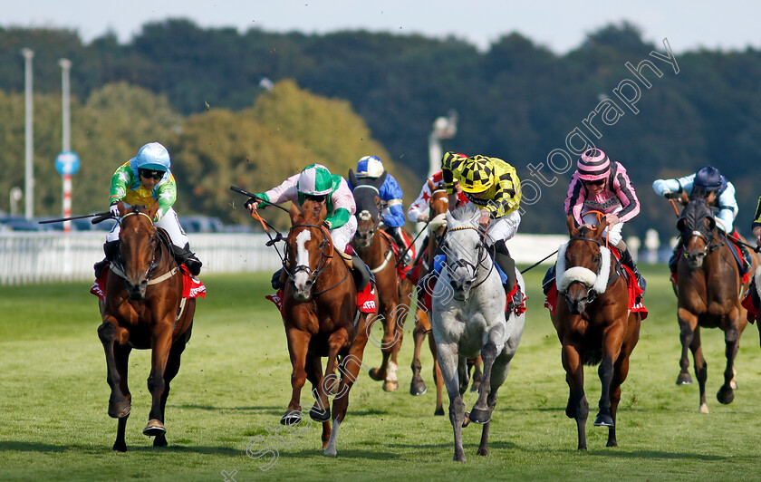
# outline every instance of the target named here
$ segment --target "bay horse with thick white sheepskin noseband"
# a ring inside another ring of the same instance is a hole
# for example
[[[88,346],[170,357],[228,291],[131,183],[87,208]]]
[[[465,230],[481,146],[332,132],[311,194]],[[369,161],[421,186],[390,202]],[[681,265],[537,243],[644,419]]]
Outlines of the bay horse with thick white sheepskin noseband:
[[[630,312],[621,264],[603,246],[606,224],[577,228],[573,216],[567,218],[567,224],[571,239],[558,250],[557,306],[550,314],[562,345],[570,389],[565,415],[576,420],[578,449],[586,450],[589,403],[584,394],[583,365],[600,364],[602,394],[594,425],[608,427],[607,447],[617,447],[621,383],[629,374],[629,357],[640,339],[641,313]]]

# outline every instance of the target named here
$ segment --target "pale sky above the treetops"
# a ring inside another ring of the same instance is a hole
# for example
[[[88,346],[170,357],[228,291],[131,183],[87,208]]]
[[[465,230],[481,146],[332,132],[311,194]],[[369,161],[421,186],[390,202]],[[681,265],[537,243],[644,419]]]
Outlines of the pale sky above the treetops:
[[[454,35],[485,51],[517,32],[554,53],[567,53],[606,24],[629,21],[646,41],[664,38],[675,53],[698,48],[761,48],[757,0],[0,0],[0,26],[76,30],[82,41],[107,32],[127,43],[148,22],[188,18],[201,27],[246,32],[339,30]]]

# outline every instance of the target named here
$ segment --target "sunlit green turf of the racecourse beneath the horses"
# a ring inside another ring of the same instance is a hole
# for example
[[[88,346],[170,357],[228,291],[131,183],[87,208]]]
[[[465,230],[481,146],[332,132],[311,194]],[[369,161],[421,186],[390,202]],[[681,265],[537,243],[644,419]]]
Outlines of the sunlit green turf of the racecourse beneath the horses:
[[[409,395],[411,337],[400,354],[400,390],[386,393],[366,374],[350,395],[338,458],[326,458],[320,429],[300,437],[280,428],[290,399],[290,362],[274,305],[263,299],[268,274],[208,275],[193,338],[172,383],[166,414],[168,448],[153,448],[148,421],[149,352],[130,359],[129,452],[111,451],[116,420],[106,413],[109,388],[96,328],[97,300],[88,284],[2,287],[0,296],[0,478],[63,480],[742,480],[758,479],[761,355],[753,325],[737,356],[736,400],[720,405],[724,366],[718,330],[704,331],[708,407],[698,413],[698,387],[674,384],[679,372],[675,298],[665,267],[644,270],[650,317],[631,357],[618,416],[620,447],[605,448],[607,429],[592,427],[599,381],[587,368],[589,450],[576,450],[575,423],[564,415],[567,387],[560,343],[543,307],[543,269],[527,275],[526,328],[493,416],[491,455],[476,455],[480,428],[463,430],[467,462],[452,462],[448,417],[434,417],[429,391]],[[380,339],[380,334],[377,335]],[[365,363],[380,350],[368,344]],[[691,363],[691,362],[690,362]],[[303,400],[308,396],[303,391]],[[467,409],[476,400],[467,394]],[[448,404],[445,404],[445,407]],[[282,439],[278,443],[275,433]],[[259,440],[259,442],[257,442]],[[250,444],[250,445],[249,445]],[[250,458],[246,446],[277,449]]]

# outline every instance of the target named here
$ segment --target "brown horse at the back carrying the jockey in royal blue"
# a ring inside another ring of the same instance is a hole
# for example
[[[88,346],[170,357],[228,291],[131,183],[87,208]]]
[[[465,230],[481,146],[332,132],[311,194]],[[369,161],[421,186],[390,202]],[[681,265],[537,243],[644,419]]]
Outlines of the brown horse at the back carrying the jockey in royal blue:
[[[397,355],[414,286],[407,277],[399,279],[397,265],[401,256],[394,255],[393,241],[380,227],[381,201],[378,194],[386,180],[386,173],[380,178],[357,178],[349,169],[349,179],[357,204],[358,221],[352,247],[375,275],[378,290],[378,310],[370,326],[379,320],[383,323],[381,366],[372,368],[369,375],[372,380],[383,381],[383,390],[394,391],[399,388]]]

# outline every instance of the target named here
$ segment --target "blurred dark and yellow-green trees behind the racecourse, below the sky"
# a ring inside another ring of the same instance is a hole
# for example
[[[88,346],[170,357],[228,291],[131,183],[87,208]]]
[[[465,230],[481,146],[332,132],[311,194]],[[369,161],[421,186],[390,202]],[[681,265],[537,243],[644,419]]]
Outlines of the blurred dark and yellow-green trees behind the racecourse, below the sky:
[[[669,43],[678,46],[679,39]],[[103,209],[113,169],[150,140],[164,142],[172,154],[180,215],[248,222],[235,209],[243,199],[230,184],[269,188],[314,161],[345,175],[366,154],[384,159],[409,203],[428,170],[431,123],[452,109],[458,133],[444,141],[445,149],[506,159],[521,178],[535,181],[529,164],[544,164],[552,185],[540,185],[541,198],[526,203],[523,232],[564,231],[573,170],[553,172],[547,158],[554,149],[568,150],[574,129],[629,171],[642,212],[626,234],[649,227],[673,234],[671,207],[650,188],[655,178],[718,167],[737,188],[737,227],[746,233],[761,191],[752,170],[761,151],[761,52],[753,49],[679,54],[677,73],[650,55],[668,55],[664,45],[643,41],[627,23],[604,26],[558,55],[519,34],[479,52],[457,37],[239,33],[170,19],[143,25],[126,44],[108,33],[83,44],[69,30],[0,29],[0,193],[24,185],[23,47],[35,52],[38,213],[57,214],[61,206],[53,159],[61,145],[62,57],[73,63],[72,149],[82,159],[73,178],[78,212]],[[641,69],[650,88],[625,65],[636,68],[646,59],[662,72]],[[639,85],[636,114],[614,92],[624,92],[625,80]],[[609,124],[597,115],[596,139],[583,121],[604,99],[616,101],[622,113]],[[0,197],[0,209],[7,202]]]

